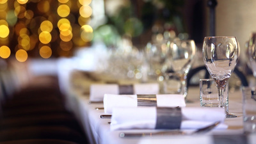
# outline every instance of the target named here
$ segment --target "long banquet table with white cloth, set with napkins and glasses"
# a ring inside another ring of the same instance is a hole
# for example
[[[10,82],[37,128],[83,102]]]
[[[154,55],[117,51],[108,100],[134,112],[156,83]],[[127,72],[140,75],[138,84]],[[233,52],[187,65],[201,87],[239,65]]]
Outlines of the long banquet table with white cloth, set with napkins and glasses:
[[[62,70],[61,70],[62,71]],[[152,137],[132,137],[132,138],[120,138],[120,132],[156,132],[157,130],[148,129],[134,129],[125,131],[111,131],[110,130],[110,118],[100,118],[100,115],[104,115],[102,108],[103,103],[90,103],[90,96],[88,90],[84,86],[77,86],[70,83],[72,78],[70,73],[65,71],[61,76],[63,78],[60,81],[63,85],[63,90],[67,95],[68,108],[75,113],[77,118],[83,125],[90,143],[95,144],[128,144],[128,143],[254,143],[256,136],[253,134],[244,138],[243,134],[243,113],[242,113],[242,93],[241,90],[229,93],[229,112],[237,115],[237,118],[225,118],[225,124],[228,125],[228,129],[213,129],[206,134],[197,135],[170,135],[170,136],[152,136]],[[79,79],[79,77],[76,77]],[[82,78],[82,77],[81,77]],[[80,79],[79,81],[83,81]],[[88,86],[88,85],[86,85]],[[88,88],[87,88],[88,89]],[[86,92],[85,92],[86,91]],[[199,87],[190,87],[188,90],[188,100],[186,107],[200,107],[199,101]],[[159,130],[158,130],[159,131]],[[219,136],[219,137],[218,137]],[[222,136],[222,137],[220,137]],[[227,139],[227,140],[225,140]],[[218,141],[216,141],[218,140]],[[223,142],[225,141],[225,142]]]

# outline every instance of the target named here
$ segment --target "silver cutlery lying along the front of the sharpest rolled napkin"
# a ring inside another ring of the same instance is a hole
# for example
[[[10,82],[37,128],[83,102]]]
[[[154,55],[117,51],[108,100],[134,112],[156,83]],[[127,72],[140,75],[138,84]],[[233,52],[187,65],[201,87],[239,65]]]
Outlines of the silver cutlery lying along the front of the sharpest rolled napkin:
[[[120,132],[119,136],[121,138],[125,137],[141,137],[141,136],[166,136],[166,135],[180,135],[180,134],[202,134],[211,131],[219,125],[220,122],[215,122],[214,124],[208,125],[207,127],[203,127],[201,129],[197,129],[194,132],[186,133],[180,130],[173,131],[161,131],[161,132]]]

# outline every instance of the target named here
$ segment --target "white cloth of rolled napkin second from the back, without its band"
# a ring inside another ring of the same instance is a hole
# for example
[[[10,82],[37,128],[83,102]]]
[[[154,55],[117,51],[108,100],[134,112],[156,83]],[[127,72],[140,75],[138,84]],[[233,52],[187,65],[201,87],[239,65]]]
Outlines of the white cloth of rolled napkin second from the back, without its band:
[[[186,102],[183,95],[156,95],[158,107],[184,107]],[[137,95],[104,95],[104,111],[105,113],[112,113],[115,107],[137,107]]]

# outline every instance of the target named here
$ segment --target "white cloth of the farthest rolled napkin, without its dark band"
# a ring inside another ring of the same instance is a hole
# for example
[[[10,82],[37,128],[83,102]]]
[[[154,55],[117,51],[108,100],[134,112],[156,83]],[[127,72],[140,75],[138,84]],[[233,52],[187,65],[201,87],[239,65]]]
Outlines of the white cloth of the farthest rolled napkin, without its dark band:
[[[132,94],[158,94],[159,84],[157,83],[136,83],[132,84]],[[92,84],[90,86],[90,100],[102,101],[105,93],[120,94],[118,84]],[[127,94],[127,93],[126,93]]]

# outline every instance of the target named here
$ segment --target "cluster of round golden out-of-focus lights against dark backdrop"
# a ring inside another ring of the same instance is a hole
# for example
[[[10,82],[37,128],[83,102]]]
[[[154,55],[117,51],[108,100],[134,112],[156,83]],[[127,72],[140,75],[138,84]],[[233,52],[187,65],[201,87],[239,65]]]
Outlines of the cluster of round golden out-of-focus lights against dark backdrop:
[[[13,54],[26,61],[38,51],[42,58],[72,56],[73,47],[92,42],[90,4],[92,0],[0,0],[0,58]]]

